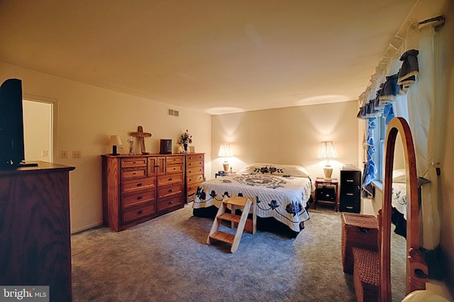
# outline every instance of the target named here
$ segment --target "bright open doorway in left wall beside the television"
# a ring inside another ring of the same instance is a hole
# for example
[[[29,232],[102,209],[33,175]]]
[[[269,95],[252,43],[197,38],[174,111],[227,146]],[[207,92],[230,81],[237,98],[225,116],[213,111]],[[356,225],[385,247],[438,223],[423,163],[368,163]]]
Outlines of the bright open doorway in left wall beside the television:
[[[53,160],[53,104],[23,99],[23,140],[26,161]]]

